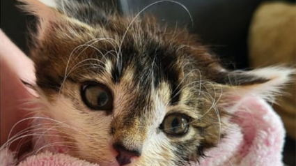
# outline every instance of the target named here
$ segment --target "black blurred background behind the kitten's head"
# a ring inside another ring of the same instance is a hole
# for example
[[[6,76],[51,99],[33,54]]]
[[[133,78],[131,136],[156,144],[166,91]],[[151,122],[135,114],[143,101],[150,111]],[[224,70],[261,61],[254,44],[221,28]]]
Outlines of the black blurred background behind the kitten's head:
[[[295,0],[288,0],[295,2]],[[95,3],[115,6],[123,15],[138,13],[155,0],[96,0]],[[173,2],[157,3],[145,10],[158,17],[159,24],[171,27],[186,26],[192,33],[197,33],[208,45],[213,54],[217,54],[228,68],[249,68],[247,37],[249,24],[254,10],[262,0],[178,0],[182,6]],[[34,17],[22,13],[16,7],[15,0],[1,0],[0,27],[25,53],[29,52],[26,39],[27,27],[33,27]],[[295,165],[295,140],[287,138],[284,161]]]

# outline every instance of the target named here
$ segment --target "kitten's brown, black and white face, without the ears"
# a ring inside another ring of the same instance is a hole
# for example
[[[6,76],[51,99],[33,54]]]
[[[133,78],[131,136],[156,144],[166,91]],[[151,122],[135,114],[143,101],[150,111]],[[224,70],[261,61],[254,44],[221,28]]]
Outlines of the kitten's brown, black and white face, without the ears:
[[[101,165],[115,165],[116,157],[122,165],[197,160],[219,138],[213,103],[221,89],[203,76],[217,64],[170,31],[134,24],[126,34],[83,29],[88,38],[65,39],[64,31],[60,40],[52,34],[38,45],[36,55],[50,56],[46,63],[36,57],[37,84],[50,102],[45,114],[77,130],[59,128],[74,143],[72,155]],[[63,47],[65,41],[73,44]]]

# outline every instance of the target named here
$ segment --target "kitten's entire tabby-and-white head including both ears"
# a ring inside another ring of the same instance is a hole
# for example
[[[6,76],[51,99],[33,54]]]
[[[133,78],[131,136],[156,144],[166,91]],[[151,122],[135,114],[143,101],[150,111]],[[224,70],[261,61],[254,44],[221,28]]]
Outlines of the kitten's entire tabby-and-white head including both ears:
[[[270,97],[290,70],[222,68],[186,31],[91,3],[22,0],[38,17],[32,47],[40,113],[70,155],[100,165],[185,165],[227,134],[231,107]],[[46,4],[46,5],[45,5]]]

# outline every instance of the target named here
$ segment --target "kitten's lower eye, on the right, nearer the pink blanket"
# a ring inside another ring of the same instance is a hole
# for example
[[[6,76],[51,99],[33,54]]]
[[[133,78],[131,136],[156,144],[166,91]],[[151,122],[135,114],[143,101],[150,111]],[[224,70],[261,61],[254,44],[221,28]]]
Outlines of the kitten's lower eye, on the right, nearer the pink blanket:
[[[173,136],[180,136],[187,133],[189,128],[189,119],[187,116],[182,114],[169,114],[162,121],[159,127],[164,133]]]

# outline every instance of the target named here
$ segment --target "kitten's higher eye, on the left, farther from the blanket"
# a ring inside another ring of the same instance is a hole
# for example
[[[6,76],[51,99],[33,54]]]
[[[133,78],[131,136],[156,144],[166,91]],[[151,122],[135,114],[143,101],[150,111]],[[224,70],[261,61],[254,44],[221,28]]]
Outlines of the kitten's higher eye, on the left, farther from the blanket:
[[[88,83],[81,87],[81,98],[93,110],[112,110],[113,98],[111,92],[102,84]]]

